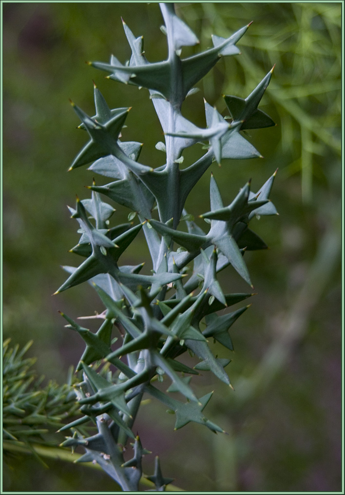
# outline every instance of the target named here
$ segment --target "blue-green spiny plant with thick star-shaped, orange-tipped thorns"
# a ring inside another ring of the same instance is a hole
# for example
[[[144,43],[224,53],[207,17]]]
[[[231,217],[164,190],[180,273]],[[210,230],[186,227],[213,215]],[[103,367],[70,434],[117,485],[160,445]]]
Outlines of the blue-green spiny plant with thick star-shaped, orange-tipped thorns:
[[[89,65],[106,71],[108,79],[117,83],[148,89],[164,132],[165,142],[156,148],[166,153],[165,163],[154,168],[138,161],[141,143],[120,139],[129,108],[110,109],[95,85],[94,116],[71,102],[89,141],[69,170],[92,162],[89,170],[111,182],[97,186],[93,180],[91,198],[77,198],[76,207],[69,208],[82,234],[71,251],[85,260],[78,268],[64,267],[70,275],[57,291],[87,281],[105,306],[97,315],[101,324],[96,333],[61,313],[67,327],[78,332],[86,344],[77,366],[83,376],[76,387],[82,415],[60,430],[73,432],[63,445],[83,446],[86,452],[81,462],[98,463],[123,491],[132,492],[138,490],[142,456],[147,453],[133,433],[143,394],[163,402],[175,414],[175,430],[192,421],[212,432],[223,432],[203,413],[212,393],[196,396],[190,380],[201,370],[211,371],[231,387],[224,371],[230,358],[217,358],[209,340],[233,350],[228,330],[249,306],[221,315],[217,312],[253,294],[224,294],[217,273],[232,266],[230,272],[234,269],[253,288],[244,253],[267,246],[249,223],[254,217],[277,213],[268,199],[275,173],[256,193],[249,181],[225,206],[211,175],[210,211],[198,212],[210,224],[208,232],[185,210],[189,193],[214,161],[261,156],[241,131],[275,125],[258,108],[273,69],[247,98],[223,97],[228,117],[223,118],[205,101],[207,128],[199,128],[182,116],[183,101],[197,91],[195,85],[222,56],[240,53],[236,44],[250,24],[227,39],[215,35],[213,48],[181,58],[182,47],[194,46],[198,39],[177,17],[173,3],[159,5],[165,24],[162,31],[168,41],[167,60],[150,63],[143,52],[142,37],[136,38],[123,21],[131,49],[129,61],[122,64],[112,55],[110,63]],[[182,168],[183,151],[199,143],[204,154]],[[103,198],[128,207],[129,222],[137,216],[138,223],[111,227],[115,209]],[[158,219],[153,218],[156,210]],[[186,222],[185,230],[179,229],[181,220]],[[140,231],[152,259],[151,275],[141,273],[143,264],[121,264],[122,254]],[[194,359],[192,366],[179,360],[185,352]],[[154,383],[164,382],[166,376],[172,384],[164,392]],[[179,392],[184,400],[173,398],[172,392]],[[90,421],[97,433],[86,438],[82,425]],[[125,460],[124,450],[130,440],[133,456]],[[164,491],[172,481],[162,475],[158,458],[154,474],[147,478],[155,485],[153,491]]]

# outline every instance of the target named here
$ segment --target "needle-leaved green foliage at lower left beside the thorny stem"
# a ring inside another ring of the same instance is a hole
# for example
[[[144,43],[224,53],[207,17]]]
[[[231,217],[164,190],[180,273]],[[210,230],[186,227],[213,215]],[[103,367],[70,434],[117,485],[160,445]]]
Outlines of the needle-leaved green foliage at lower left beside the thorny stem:
[[[36,359],[24,358],[32,341],[20,351],[18,345],[11,348],[9,344],[7,339],[2,346],[3,440],[29,448],[33,443],[55,445],[52,434],[78,409],[72,386],[73,370],[66,384],[59,386],[49,381],[43,387],[44,377],[37,378],[32,369]]]

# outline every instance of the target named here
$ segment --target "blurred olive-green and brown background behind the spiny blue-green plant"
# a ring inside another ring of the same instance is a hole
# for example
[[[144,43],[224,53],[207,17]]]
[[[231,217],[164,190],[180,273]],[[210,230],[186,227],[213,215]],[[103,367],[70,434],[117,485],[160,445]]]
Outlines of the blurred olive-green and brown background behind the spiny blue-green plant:
[[[51,296],[66,278],[59,265],[80,261],[67,252],[79,235],[66,205],[74,205],[76,194],[89,197],[84,186],[92,181],[86,167],[66,172],[86,142],[68,99],[93,115],[94,79],[110,107],[133,107],[124,139],[144,143],[141,162],[161,165],[154,145],[162,131],[147,91],[105,80],[85,61],[108,61],[111,53],[129,58],[120,16],[136,36],[144,35],[150,61],[164,59],[163,21],[156,2],[2,7],[3,337],[20,345],[33,339],[38,373],[63,383],[83,343],[64,328],[57,310],[77,318],[103,309],[88,285]],[[253,224],[270,249],[246,254],[258,295],[230,332],[235,352],[227,371],[235,392],[213,375],[193,378],[198,396],[215,390],[205,414],[228,435],[194,424],[173,432],[173,418],[155,402],[142,407],[137,431],[145,448],[160,455],[164,475],[188,491],[339,491],[342,3],[190,2],[176,8],[202,49],[211,45],[211,34],[225,37],[254,21],[238,44],[242,54],[222,59],[198,85],[202,91],[185,102],[183,113],[197,125],[205,126],[203,96],[225,115],[219,95],[247,97],[276,64],[260,108],[278,125],[248,136],[264,159],[225,160],[212,171],[228,204],[249,178],[256,191],[279,168],[271,199],[280,216]],[[209,210],[209,172],[187,202],[196,217]],[[128,213],[119,206],[116,223]],[[145,260],[149,270],[143,238],[122,257],[123,264]],[[234,273],[220,280],[227,292],[247,292]],[[145,457],[148,474],[153,455]],[[103,473],[47,463],[49,470],[36,459],[13,457],[4,467],[3,489],[116,490]]]

